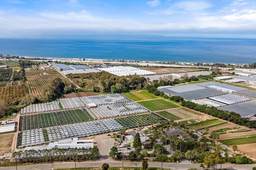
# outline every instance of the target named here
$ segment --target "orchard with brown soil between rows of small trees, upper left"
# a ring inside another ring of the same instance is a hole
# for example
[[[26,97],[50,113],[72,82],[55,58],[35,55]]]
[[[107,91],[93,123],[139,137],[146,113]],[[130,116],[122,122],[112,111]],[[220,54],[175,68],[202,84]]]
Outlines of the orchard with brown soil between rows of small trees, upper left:
[[[41,75],[43,73],[48,75]],[[41,95],[42,87],[51,84],[55,78],[65,80],[56,70],[26,70],[28,89],[36,97]]]

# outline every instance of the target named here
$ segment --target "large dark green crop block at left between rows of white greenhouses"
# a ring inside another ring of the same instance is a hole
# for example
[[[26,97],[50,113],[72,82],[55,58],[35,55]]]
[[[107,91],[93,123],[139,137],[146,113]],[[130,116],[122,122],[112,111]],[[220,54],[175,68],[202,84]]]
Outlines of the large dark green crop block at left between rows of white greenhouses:
[[[91,121],[94,118],[86,109],[56,111],[50,113],[39,113],[20,116],[20,131],[53,127]]]

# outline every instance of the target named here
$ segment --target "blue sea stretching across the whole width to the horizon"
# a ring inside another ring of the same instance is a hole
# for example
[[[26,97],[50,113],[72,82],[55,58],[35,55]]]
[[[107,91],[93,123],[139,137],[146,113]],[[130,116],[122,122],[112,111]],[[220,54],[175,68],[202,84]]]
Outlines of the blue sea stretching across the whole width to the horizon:
[[[0,54],[20,57],[238,64],[256,62],[256,39],[0,39]]]

